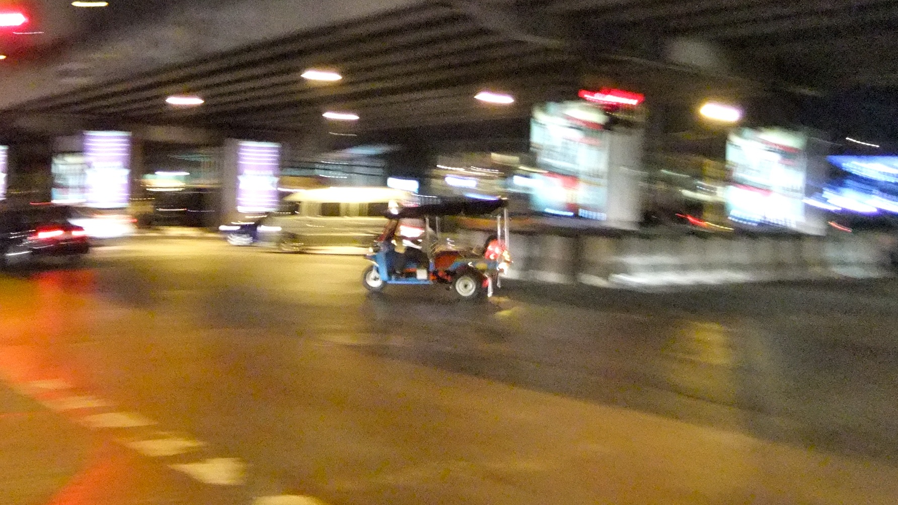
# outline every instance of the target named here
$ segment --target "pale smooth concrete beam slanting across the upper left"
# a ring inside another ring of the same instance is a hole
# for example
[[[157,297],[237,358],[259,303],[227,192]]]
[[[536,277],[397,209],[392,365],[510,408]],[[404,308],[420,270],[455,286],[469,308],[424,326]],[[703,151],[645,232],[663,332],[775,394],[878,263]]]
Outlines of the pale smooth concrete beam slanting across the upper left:
[[[229,4],[188,4],[163,13],[159,21],[110,36],[100,46],[75,43],[49,62],[22,62],[0,78],[14,90],[0,96],[0,110],[71,92],[84,84],[123,79],[247,45],[363,18],[415,4],[413,0],[240,0]],[[66,5],[67,6],[67,5]],[[76,80],[59,69],[78,66]]]

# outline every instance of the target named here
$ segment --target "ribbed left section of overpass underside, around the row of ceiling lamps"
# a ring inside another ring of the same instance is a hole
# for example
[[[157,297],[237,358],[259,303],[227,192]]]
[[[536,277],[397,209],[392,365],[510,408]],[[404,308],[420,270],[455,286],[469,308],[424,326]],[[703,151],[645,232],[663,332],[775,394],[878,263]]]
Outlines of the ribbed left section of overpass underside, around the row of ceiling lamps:
[[[310,67],[333,68],[343,79],[307,82],[300,75]],[[571,54],[509,40],[445,4],[417,4],[26,102],[13,112],[313,130],[324,111],[352,111],[362,118],[357,128],[379,130],[526,118],[534,102],[574,93],[577,75]],[[474,100],[485,88],[517,101],[497,107]],[[206,102],[174,109],[164,101],[176,93]]]

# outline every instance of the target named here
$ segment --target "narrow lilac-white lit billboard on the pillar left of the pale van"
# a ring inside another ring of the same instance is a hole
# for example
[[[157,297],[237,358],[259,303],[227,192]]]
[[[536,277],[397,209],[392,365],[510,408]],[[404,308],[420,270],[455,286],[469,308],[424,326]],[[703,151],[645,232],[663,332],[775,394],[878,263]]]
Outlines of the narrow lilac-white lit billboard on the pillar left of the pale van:
[[[280,145],[241,140],[237,144],[237,210],[267,212],[277,208]]]

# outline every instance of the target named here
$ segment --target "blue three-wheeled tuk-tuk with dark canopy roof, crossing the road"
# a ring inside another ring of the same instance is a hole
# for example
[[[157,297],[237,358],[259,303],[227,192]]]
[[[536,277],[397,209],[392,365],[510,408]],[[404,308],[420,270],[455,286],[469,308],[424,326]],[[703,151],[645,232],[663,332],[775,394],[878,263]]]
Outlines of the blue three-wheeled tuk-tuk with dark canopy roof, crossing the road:
[[[482,250],[456,247],[441,237],[442,217],[496,216],[496,235]],[[383,233],[377,237],[365,259],[372,262],[362,275],[369,291],[382,291],[390,284],[436,285],[453,289],[462,299],[490,297],[501,287],[501,278],[511,257],[508,253],[508,210],[505,199],[458,199],[418,207],[394,208]],[[403,220],[424,222],[424,234],[403,237]],[[400,253],[401,249],[409,253]]]

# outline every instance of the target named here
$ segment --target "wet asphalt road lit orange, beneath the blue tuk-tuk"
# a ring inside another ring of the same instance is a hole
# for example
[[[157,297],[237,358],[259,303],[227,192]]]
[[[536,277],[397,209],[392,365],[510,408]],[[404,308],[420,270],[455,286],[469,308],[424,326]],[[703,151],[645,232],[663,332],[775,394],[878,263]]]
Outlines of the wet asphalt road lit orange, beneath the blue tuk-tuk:
[[[96,503],[898,497],[898,282],[506,282],[477,305],[370,296],[364,267],[97,248],[0,276],[0,372],[118,458]]]

